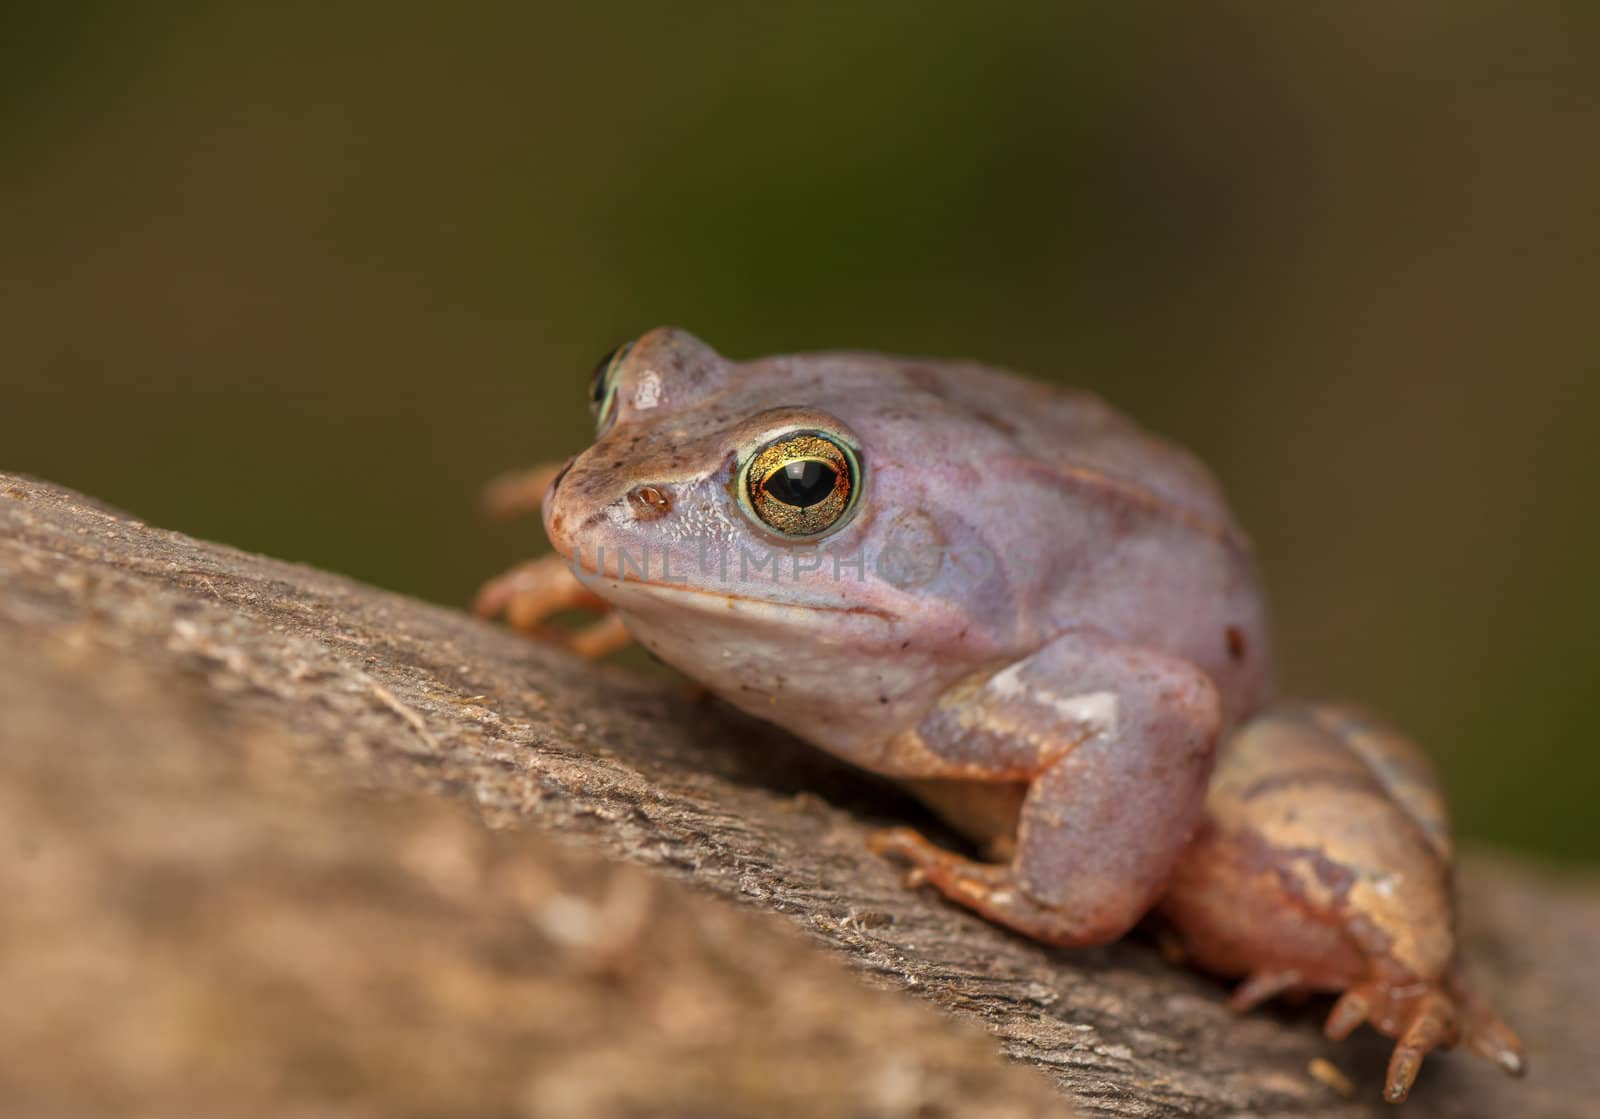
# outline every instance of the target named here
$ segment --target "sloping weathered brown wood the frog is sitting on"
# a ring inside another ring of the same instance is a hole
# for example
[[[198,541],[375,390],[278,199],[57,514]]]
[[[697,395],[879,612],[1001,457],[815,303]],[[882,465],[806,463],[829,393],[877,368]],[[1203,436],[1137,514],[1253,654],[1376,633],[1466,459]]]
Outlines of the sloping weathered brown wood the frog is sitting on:
[[[1325,1004],[1240,1018],[1147,940],[901,888],[862,840],[915,815],[672,680],[0,475],[6,1114],[1056,1109],[986,1049],[1088,1114],[1392,1113]],[[1533,1073],[1432,1058],[1405,1114],[1600,1114],[1600,885],[1480,853],[1461,887]]]

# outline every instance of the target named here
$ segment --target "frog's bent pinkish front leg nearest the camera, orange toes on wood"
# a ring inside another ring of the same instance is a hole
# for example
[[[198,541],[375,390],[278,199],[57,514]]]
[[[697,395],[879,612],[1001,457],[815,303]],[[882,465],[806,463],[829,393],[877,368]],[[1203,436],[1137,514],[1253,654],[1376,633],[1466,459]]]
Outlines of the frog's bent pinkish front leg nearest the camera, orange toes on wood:
[[[909,828],[874,848],[990,920],[1099,945],[1139,920],[1200,821],[1221,701],[1194,664],[1070,631],[947,692],[894,740],[907,776],[1027,781],[1010,863],[978,863]]]

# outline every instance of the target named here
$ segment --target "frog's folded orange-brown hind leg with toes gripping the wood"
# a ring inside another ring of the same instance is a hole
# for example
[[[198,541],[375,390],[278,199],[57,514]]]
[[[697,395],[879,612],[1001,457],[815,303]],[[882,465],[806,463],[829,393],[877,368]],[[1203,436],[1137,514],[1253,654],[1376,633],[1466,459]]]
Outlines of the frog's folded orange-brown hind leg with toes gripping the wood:
[[[1520,1074],[1515,1034],[1461,980],[1443,799],[1410,740],[1341,708],[1274,708],[1222,743],[1206,807],[1162,909],[1200,967],[1253,977],[1235,1002],[1288,972],[1339,993],[1323,1029],[1395,1039],[1392,1101],[1459,1042]]]

